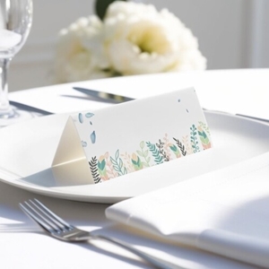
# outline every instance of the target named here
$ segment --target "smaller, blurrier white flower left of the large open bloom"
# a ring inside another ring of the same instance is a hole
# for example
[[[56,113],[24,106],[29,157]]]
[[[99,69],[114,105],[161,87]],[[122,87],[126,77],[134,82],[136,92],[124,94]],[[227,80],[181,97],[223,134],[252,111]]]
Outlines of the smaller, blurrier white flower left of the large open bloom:
[[[92,15],[80,18],[59,33],[56,44],[56,82],[74,82],[108,77],[103,47],[103,24]]]

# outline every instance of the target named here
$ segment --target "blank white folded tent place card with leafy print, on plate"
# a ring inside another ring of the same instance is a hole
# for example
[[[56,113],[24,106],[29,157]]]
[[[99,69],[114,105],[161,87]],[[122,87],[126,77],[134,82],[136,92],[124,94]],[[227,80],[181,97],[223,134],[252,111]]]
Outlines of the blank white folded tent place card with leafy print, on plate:
[[[190,88],[70,116],[52,169],[57,180],[94,184],[211,147]]]

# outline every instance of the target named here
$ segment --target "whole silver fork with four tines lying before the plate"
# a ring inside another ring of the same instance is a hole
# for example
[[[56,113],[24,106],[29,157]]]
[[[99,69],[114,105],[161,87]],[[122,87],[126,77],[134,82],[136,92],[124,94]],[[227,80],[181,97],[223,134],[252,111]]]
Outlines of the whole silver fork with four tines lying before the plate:
[[[22,211],[26,213],[33,221],[36,221],[43,230],[48,232],[50,236],[56,239],[71,242],[85,241],[89,239],[101,239],[113,243],[118,247],[125,248],[136,256],[143,258],[144,261],[153,265],[155,268],[184,269],[183,267],[164,261],[159,257],[157,258],[155,256],[146,254],[143,251],[138,250],[137,248],[121,240],[92,234],[86,230],[80,230],[62,220],[56,215],[56,213],[50,211],[48,207],[46,207],[44,204],[41,204],[37,199],[34,199],[34,201],[29,200],[20,203],[20,207],[22,208]]]

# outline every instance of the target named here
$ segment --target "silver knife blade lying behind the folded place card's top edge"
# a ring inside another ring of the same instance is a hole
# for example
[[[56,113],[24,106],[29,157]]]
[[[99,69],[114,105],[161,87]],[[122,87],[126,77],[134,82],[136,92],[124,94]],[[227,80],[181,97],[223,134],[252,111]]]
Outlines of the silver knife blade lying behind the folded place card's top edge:
[[[95,90],[85,89],[85,88],[80,88],[80,87],[73,87],[73,89],[76,91],[81,91],[82,93],[85,93],[87,95],[90,95],[93,98],[100,99],[100,100],[107,100],[107,101],[109,100],[109,101],[117,102],[117,103],[134,100],[134,98],[131,98],[131,97],[108,93],[104,91],[95,91]]]

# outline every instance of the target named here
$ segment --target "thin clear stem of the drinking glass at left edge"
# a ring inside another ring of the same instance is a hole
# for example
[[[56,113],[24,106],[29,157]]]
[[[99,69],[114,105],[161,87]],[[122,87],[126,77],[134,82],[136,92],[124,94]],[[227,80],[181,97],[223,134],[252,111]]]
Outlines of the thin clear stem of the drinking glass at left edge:
[[[0,59],[0,114],[6,114],[11,110],[7,96],[7,70],[10,61],[10,58]]]

